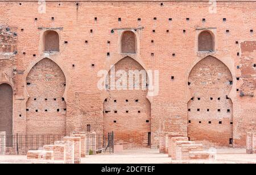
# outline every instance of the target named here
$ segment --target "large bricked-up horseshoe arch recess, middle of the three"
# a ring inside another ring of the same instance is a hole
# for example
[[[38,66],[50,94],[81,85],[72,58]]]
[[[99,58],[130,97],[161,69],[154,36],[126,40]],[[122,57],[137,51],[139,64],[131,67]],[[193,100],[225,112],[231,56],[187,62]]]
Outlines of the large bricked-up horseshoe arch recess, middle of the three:
[[[137,78],[134,73],[137,73]],[[121,77],[124,81],[120,81]],[[150,147],[151,104],[146,97],[146,70],[131,57],[125,57],[109,71],[106,81],[111,88],[103,104],[104,134],[114,131],[115,143],[123,144],[124,148]],[[113,87],[110,82],[120,86]],[[135,89],[135,85],[139,88]],[[129,86],[131,89],[126,89]]]

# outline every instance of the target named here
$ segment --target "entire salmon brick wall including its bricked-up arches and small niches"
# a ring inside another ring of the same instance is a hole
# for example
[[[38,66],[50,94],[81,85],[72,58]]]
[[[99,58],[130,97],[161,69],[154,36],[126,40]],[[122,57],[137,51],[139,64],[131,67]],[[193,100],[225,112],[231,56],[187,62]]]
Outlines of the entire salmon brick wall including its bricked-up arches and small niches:
[[[114,131],[123,148],[167,147],[168,133],[245,148],[256,127],[255,13],[255,1],[1,0],[0,131]],[[158,71],[158,94],[98,89],[113,65]]]

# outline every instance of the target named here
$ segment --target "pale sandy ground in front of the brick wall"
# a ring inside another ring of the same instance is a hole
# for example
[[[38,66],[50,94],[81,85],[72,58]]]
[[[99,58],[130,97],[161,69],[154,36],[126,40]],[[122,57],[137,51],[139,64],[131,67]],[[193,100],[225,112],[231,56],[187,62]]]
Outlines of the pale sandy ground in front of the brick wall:
[[[31,163],[23,155],[0,155],[3,163]],[[81,159],[84,164],[170,164],[170,163],[255,163],[256,155],[247,155],[245,149],[217,149],[216,160],[172,161],[158,149],[129,149],[122,153],[88,155]]]

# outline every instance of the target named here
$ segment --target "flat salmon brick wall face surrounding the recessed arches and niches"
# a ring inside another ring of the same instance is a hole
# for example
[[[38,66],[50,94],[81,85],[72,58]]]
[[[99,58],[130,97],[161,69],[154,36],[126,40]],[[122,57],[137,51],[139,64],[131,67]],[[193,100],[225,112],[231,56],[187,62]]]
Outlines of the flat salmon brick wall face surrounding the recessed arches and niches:
[[[208,55],[221,60],[232,74],[229,98],[233,102],[233,145],[245,147],[246,132],[255,130],[256,101],[251,97],[255,94],[251,65],[255,63],[255,45],[242,43],[256,40],[255,2],[217,1],[216,13],[209,11],[208,1],[168,1],[162,6],[158,1],[76,2],[47,1],[46,13],[39,13],[38,1],[0,3],[1,26],[17,28],[17,54],[0,56],[0,72],[5,75],[1,82],[13,85],[14,90],[14,133],[26,133],[30,95],[26,78],[36,62],[45,57],[56,62],[65,74],[67,86],[61,95],[67,102],[67,132],[84,130],[90,123],[92,131],[103,131],[102,104],[108,94],[97,89],[97,72],[109,70],[125,57],[120,43],[123,28],[128,28],[137,37],[137,54],[131,57],[145,69],[159,70],[159,95],[150,98],[152,147],[158,147],[159,132],[187,132],[187,102],[191,99],[188,76],[193,66]],[[198,35],[205,28],[214,35],[215,52],[197,52]],[[58,32],[59,53],[42,53],[46,30]],[[240,96],[241,92],[245,95]],[[80,96],[79,104],[87,104],[81,109],[77,107],[77,94],[88,94]],[[88,105],[90,102],[95,105]]]

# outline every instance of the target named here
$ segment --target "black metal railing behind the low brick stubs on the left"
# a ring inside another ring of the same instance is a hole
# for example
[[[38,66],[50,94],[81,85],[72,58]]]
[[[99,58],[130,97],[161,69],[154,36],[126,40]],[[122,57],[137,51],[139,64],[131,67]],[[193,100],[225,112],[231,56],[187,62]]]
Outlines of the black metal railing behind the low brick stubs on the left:
[[[30,150],[52,145],[67,135],[0,135],[0,155],[26,155]],[[114,152],[114,133],[108,135],[88,134],[85,138],[87,155]]]

